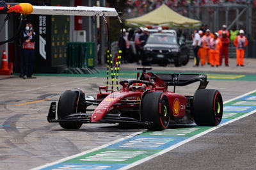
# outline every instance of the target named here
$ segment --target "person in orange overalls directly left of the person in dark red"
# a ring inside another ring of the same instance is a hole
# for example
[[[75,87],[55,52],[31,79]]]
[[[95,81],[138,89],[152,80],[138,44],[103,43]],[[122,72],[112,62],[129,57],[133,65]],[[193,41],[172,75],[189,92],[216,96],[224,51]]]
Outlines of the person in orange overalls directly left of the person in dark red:
[[[211,66],[220,65],[220,49],[221,49],[221,40],[218,38],[219,34],[214,33],[214,38],[210,40],[210,58]]]

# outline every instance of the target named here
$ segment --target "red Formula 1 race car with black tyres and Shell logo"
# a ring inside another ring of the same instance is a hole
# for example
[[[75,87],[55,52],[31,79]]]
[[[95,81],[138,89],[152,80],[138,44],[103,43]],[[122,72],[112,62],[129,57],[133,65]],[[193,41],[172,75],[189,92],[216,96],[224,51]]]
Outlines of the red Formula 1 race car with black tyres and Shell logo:
[[[189,120],[196,125],[216,126],[223,114],[223,102],[217,89],[205,89],[204,74],[146,73],[152,68],[138,68],[137,79],[121,81],[120,91],[107,92],[99,87],[97,98],[84,96],[82,89],[67,90],[58,102],[52,102],[47,120],[67,129],[78,129],[83,123],[143,124],[149,130],[163,130],[170,121]],[[193,96],[175,93],[175,86],[200,82]],[[168,91],[168,86],[174,90]],[[104,92],[102,92],[104,91]],[[94,106],[95,108],[90,109]]]

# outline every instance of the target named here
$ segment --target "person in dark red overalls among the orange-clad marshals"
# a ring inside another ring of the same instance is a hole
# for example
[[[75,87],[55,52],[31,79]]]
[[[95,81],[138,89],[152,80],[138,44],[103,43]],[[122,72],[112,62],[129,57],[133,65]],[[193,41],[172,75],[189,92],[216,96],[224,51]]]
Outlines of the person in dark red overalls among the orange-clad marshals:
[[[228,66],[228,45],[230,43],[230,40],[227,36],[227,32],[222,32],[222,37],[220,38],[222,47],[220,50],[220,65],[222,65],[222,58],[225,56],[225,66]]]

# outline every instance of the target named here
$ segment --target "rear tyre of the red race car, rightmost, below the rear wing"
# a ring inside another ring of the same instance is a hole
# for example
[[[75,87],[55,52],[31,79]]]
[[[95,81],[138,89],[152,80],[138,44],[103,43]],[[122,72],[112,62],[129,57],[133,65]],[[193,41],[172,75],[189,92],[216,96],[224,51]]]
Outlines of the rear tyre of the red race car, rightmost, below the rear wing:
[[[223,115],[223,101],[217,89],[198,89],[193,99],[193,116],[196,125],[217,126]]]

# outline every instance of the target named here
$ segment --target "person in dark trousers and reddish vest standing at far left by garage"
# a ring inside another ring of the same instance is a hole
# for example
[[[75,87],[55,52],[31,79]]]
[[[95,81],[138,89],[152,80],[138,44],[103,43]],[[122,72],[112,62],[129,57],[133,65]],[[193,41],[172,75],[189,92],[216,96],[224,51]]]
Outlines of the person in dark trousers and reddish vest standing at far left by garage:
[[[23,79],[35,79],[33,75],[33,66],[35,60],[35,36],[33,25],[27,23],[21,34],[22,43],[22,62],[23,62]]]

